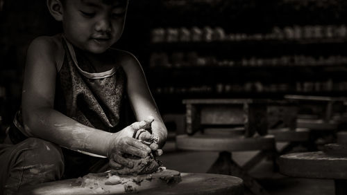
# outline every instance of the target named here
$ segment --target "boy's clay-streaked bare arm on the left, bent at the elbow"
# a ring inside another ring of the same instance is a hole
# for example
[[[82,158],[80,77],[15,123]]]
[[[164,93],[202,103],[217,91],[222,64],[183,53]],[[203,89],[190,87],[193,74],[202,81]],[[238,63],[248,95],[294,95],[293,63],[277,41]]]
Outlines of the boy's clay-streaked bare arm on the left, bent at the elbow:
[[[35,39],[28,48],[22,93],[26,132],[63,147],[102,156],[110,157],[110,153],[119,150],[146,157],[151,149],[131,138],[134,131],[131,127],[119,133],[108,133],[87,127],[53,109],[57,49],[49,37]],[[128,162],[117,163],[124,165]]]

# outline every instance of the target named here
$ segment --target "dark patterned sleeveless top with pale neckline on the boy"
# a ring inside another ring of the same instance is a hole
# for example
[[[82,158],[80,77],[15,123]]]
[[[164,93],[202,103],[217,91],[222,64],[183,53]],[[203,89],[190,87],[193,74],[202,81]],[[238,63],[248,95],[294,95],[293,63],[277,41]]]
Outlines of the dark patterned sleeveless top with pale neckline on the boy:
[[[63,35],[58,37],[65,54],[62,64],[57,65],[54,109],[88,127],[112,133],[119,131],[119,114],[126,86],[123,68],[117,66],[96,73],[90,63],[76,57],[74,46]],[[14,124],[24,136],[31,136],[23,128],[20,111]]]

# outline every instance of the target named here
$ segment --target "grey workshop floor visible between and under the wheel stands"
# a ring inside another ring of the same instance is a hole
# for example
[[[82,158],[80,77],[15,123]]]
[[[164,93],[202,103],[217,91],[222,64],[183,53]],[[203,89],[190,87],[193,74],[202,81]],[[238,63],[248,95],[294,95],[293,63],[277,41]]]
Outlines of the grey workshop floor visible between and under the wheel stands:
[[[281,147],[280,145],[278,147]],[[217,159],[217,152],[200,151],[178,151],[174,141],[169,141],[163,148],[164,154],[160,157],[167,169],[174,169],[180,172],[205,173],[208,171],[214,160]],[[234,152],[232,158],[239,165],[243,165],[257,151]],[[250,174],[257,178],[261,185],[273,195],[332,195],[335,194],[334,182],[332,180],[318,180],[306,178],[290,178],[273,172],[270,161],[262,162],[251,169]]]

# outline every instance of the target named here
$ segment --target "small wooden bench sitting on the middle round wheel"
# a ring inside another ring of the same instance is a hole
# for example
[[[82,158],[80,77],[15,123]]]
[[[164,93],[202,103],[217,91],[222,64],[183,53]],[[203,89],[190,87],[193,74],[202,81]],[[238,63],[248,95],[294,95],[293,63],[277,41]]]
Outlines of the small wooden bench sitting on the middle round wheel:
[[[266,103],[252,99],[190,99],[186,105],[186,130],[193,135],[205,127],[244,127],[244,136],[267,134]]]

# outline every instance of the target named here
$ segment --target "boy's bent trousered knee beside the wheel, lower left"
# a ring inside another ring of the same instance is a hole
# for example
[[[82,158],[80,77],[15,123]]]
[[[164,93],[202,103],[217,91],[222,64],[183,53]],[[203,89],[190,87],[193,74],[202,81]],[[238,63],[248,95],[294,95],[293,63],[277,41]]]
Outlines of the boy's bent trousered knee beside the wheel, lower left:
[[[13,155],[15,162],[6,183],[9,190],[59,180],[64,172],[62,151],[51,142],[28,138],[17,145]]]

